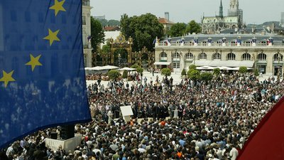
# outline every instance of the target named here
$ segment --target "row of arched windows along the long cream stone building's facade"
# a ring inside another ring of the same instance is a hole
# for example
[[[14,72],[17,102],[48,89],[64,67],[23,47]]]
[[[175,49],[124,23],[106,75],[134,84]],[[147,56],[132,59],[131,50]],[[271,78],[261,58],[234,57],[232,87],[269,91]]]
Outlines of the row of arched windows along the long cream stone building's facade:
[[[160,54],[160,58],[161,60],[167,60],[168,59],[168,55],[167,53],[163,52]],[[185,54],[185,59],[186,60],[193,60],[194,59],[194,55],[192,53],[186,53]],[[200,60],[207,60],[207,54],[206,53],[200,53],[200,55],[198,55],[198,59]],[[220,53],[214,53],[213,54],[213,60],[221,60],[222,59],[222,55]],[[236,54],[234,53],[228,53],[226,56],[227,60],[236,60]],[[173,53],[173,60],[180,60],[180,53]],[[249,53],[244,53],[243,55],[241,55],[241,60],[252,60],[251,59],[251,55]],[[266,60],[266,54],[264,53],[260,53],[258,54],[258,60]],[[276,53],[273,56],[273,60],[283,60],[283,55],[280,53]]]

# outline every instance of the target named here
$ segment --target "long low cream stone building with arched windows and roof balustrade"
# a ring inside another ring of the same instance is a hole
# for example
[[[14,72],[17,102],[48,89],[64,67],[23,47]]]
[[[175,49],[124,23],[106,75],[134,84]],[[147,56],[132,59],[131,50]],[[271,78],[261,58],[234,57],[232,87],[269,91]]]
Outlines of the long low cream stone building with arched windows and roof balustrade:
[[[157,41],[158,42],[158,41]],[[189,65],[236,70],[258,68],[263,75],[283,70],[284,36],[189,35],[155,43],[155,68],[181,72]]]

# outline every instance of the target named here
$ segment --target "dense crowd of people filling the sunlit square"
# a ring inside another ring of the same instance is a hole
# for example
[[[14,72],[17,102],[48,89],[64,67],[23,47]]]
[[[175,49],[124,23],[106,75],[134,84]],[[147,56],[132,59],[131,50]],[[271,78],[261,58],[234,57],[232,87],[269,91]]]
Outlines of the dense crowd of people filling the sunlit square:
[[[236,159],[262,117],[283,97],[283,82],[254,75],[219,75],[209,82],[143,78],[87,87],[93,121],[77,124],[84,139],[75,151],[52,151],[50,129],[14,142],[1,152],[22,159]],[[125,122],[121,106],[133,117]],[[1,157],[0,156],[0,157]]]

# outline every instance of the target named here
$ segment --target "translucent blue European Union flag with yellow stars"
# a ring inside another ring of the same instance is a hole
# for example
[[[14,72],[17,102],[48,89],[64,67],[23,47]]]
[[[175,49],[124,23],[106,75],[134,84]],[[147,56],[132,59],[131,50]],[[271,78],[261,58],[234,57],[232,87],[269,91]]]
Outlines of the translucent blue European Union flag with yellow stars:
[[[91,120],[81,20],[81,0],[0,1],[0,148]]]

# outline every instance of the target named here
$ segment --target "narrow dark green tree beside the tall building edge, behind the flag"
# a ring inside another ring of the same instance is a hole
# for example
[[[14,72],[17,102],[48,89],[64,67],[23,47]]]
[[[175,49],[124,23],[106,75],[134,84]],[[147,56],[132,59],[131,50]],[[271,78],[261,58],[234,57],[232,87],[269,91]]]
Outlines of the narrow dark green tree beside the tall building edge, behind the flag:
[[[104,29],[98,20],[91,17],[91,43],[93,53],[97,52],[100,43],[104,42]]]

